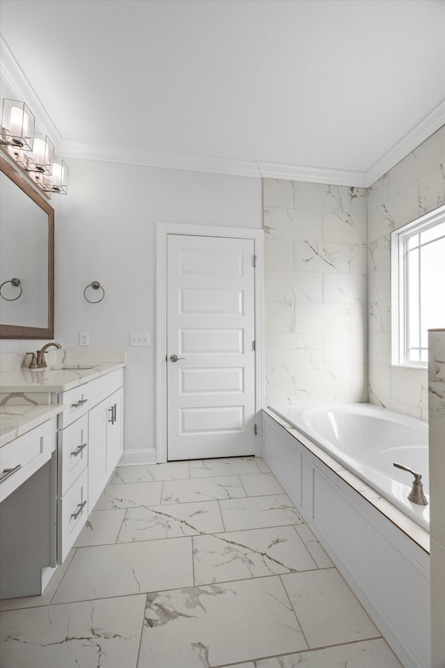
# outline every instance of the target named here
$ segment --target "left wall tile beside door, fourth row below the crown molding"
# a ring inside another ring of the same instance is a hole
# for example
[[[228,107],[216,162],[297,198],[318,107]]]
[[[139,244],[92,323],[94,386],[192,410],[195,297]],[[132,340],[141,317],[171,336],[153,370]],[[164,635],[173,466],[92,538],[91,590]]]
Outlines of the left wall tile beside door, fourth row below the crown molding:
[[[265,271],[264,299],[281,302],[323,301],[323,274],[309,271]]]

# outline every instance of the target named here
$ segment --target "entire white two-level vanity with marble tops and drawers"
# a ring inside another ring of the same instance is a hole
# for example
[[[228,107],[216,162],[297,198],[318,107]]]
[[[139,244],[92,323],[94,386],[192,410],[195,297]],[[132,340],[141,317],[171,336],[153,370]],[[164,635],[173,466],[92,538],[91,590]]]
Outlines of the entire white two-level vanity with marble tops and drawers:
[[[0,598],[16,598],[42,594],[118,465],[125,353],[1,357]]]

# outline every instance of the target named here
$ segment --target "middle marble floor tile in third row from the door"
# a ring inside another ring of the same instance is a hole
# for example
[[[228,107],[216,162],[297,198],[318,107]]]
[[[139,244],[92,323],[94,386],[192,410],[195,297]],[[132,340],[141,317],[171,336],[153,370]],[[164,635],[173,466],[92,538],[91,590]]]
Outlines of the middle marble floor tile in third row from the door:
[[[117,542],[152,541],[222,531],[224,525],[218,501],[164,504],[151,508],[129,508]]]

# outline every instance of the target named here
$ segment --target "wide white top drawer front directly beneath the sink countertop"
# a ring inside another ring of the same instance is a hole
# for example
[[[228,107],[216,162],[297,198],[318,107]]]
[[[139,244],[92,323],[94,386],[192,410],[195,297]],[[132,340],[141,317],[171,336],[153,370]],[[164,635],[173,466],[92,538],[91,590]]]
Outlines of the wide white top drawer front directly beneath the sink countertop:
[[[112,392],[122,387],[123,382],[123,371],[122,369],[118,369],[111,372],[111,374],[100,376],[94,381],[79,385],[78,388],[60,392],[58,400],[66,406],[65,410],[59,413],[58,416],[60,429],[65,429],[68,424],[88,413],[90,408],[96,406],[100,401],[108,397],[108,395],[111,395]]]

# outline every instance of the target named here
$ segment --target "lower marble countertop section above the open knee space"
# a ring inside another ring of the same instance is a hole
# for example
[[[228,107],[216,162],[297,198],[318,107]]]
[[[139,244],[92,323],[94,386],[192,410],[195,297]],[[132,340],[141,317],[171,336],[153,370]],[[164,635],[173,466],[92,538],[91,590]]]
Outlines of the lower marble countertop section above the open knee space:
[[[64,404],[0,406],[0,447],[58,415],[63,408]]]

